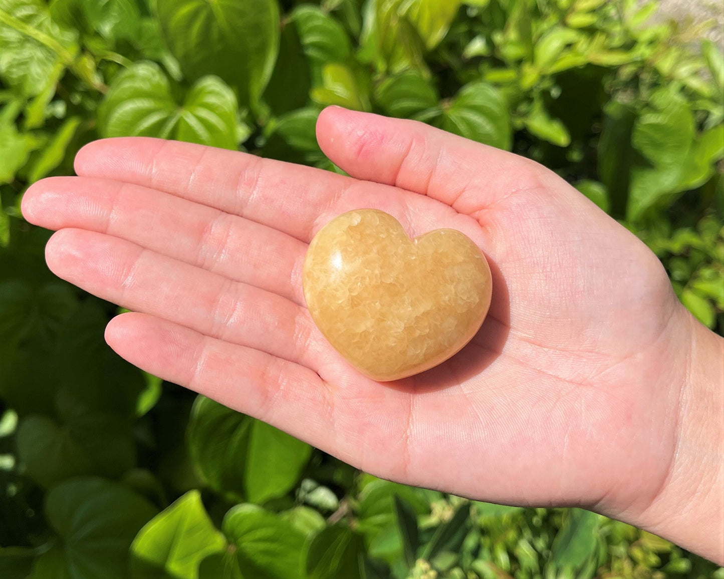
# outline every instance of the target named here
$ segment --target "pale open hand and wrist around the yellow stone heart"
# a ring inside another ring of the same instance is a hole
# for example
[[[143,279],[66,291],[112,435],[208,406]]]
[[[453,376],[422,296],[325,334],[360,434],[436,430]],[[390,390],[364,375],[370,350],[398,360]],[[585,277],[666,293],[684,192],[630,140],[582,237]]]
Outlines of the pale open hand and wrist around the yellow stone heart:
[[[25,194],[58,276],[133,311],[106,340],[168,381],[355,467],[489,502],[575,505],[724,564],[724,340],[636,237],[539,164],[407,120],[325,110],[351,177],[148,138],[90,143]],[[380,384],[327,344],[308,242],[354,208],[452,227],[489,315],[432,371]]]

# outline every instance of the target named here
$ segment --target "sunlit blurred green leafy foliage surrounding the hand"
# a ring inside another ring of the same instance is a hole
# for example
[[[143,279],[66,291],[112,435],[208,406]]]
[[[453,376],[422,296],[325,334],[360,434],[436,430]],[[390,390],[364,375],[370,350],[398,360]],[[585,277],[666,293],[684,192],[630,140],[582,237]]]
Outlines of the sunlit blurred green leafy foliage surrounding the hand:
[[[0,577],[724,579],[582,510],[360,473],[106,347],[25,188],[152,135],[324,169],[328,104],[536,159],[724,330],[724,59],[637,0],[0,0]]]

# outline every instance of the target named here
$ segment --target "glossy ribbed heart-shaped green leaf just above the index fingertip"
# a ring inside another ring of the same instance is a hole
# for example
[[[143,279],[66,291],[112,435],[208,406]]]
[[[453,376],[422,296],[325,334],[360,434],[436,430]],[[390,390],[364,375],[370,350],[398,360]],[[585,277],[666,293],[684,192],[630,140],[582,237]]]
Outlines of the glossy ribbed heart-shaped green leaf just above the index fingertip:
[[[98,111],[104,137],[176,138],[222,148],[237,148],[237,103],[218,77],[199,79],[179,105],[161,68],[133,64],[114,78]]]

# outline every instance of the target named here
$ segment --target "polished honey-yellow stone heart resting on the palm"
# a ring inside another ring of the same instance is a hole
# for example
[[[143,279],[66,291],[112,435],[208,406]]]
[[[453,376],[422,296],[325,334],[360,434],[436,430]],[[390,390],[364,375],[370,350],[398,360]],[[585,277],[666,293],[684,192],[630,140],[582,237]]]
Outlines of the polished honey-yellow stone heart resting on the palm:
[[[492,284],[466,235],[436,229],[411,240],[391,215],[358,209],[313,238],[303,290],[329,343],[366,376],[390,381],[465,346],[487,314]]]

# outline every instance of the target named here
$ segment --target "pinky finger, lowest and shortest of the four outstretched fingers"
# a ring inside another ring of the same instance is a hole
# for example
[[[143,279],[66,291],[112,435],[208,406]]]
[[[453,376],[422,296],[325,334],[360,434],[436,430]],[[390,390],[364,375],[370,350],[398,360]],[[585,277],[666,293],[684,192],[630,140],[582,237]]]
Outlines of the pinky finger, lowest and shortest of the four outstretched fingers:
[[[159,378],[327,447],[328,385],[302,365],[149,316],[124,313],[106,327],[118,355]]]

